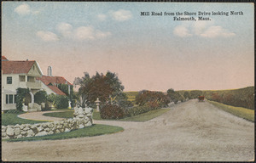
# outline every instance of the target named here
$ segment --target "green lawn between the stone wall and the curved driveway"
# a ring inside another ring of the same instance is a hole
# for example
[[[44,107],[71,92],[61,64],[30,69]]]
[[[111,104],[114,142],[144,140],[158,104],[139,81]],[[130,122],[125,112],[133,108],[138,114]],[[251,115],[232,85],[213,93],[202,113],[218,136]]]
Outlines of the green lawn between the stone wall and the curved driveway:
[[[35,124],[35,123],[42,123],[46,121],[32,121],[32,120],[26,120],[19,118],[15,113],[4,113],[2,114],[2,125],[8,126],[8,125],[16,125],[16,124]]]

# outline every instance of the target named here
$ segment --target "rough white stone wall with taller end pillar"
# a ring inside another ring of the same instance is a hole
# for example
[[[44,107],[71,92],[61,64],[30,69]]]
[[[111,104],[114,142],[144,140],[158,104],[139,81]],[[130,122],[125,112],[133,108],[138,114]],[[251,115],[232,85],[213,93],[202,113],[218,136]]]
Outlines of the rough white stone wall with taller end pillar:
[[[37,137],[91,126],[92,111],[91,108],[75,108],[74,118],[65,121],[2,126],[2,138]]]

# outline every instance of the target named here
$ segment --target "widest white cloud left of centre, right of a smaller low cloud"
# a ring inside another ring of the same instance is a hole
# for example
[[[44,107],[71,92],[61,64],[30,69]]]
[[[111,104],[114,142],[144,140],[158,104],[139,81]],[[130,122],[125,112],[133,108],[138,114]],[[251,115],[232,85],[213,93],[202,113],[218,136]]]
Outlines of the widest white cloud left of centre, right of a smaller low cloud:
[[[64,22],[57,25],[56,30],[61,33],[62,37],[79,41],[101,39],[111,36],[111,32],[99,31],[94,29],[93,26],[79,26],[74,29],[72,25]]]

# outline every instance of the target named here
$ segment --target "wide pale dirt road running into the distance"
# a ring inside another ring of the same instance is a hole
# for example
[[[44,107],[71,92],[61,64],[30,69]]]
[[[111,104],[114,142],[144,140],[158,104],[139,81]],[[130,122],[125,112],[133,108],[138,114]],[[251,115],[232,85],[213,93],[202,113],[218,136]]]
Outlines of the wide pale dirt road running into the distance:
[[[95,121],[124,132],[92,138],[2,143],[3,160],[218,160],[254,155],[254,123],[189,100],[146,122]]]

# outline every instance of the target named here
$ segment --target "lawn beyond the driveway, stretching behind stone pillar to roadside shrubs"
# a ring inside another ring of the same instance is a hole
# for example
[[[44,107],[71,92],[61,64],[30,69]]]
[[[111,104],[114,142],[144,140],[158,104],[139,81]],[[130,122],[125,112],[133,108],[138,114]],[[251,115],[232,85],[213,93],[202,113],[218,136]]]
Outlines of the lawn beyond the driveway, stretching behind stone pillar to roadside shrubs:
[[[159,115],[162,115],[169,111],[171,109],[159,109],[159,110],[151,110],[147,113],[143,113],[141,115],[135,115],[131,117],[126,117],[119,120],[113,120],[113,121],[149,121]],[[53,116],[53,117],[60,117],[60,118],[73,118],[73,111],[65,111],[65,112],[56,112],[56,113],[45,113],[45,116]],[[96,112],[96,110],[93,111],[92,118],[94,120],[100,120],[100,121],[109,121],[106,119],[102,119],[100,112]]]

